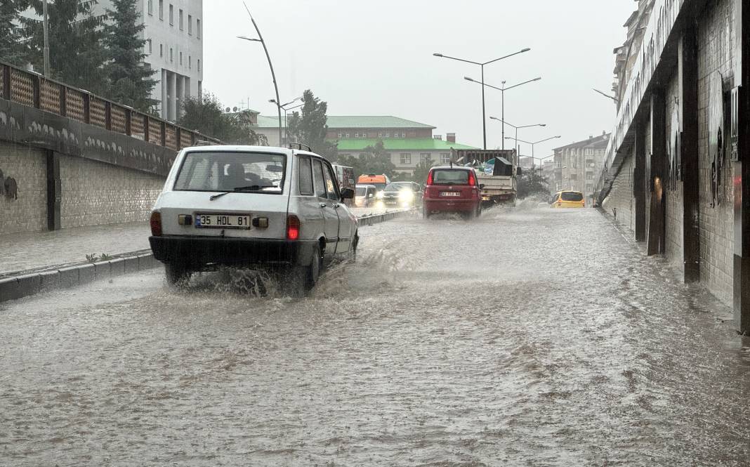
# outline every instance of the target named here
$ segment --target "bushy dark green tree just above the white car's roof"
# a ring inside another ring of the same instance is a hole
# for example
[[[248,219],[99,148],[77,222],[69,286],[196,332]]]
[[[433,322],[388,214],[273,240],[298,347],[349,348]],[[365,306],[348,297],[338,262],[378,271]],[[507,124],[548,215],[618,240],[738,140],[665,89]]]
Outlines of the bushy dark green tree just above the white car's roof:
[[[187,97],[182,104],[179,124],[197,130],[226,144],[267,145],[266,137],[255,133],[243,113],[227,114],[214,94],[204,92],[202,97]]]

